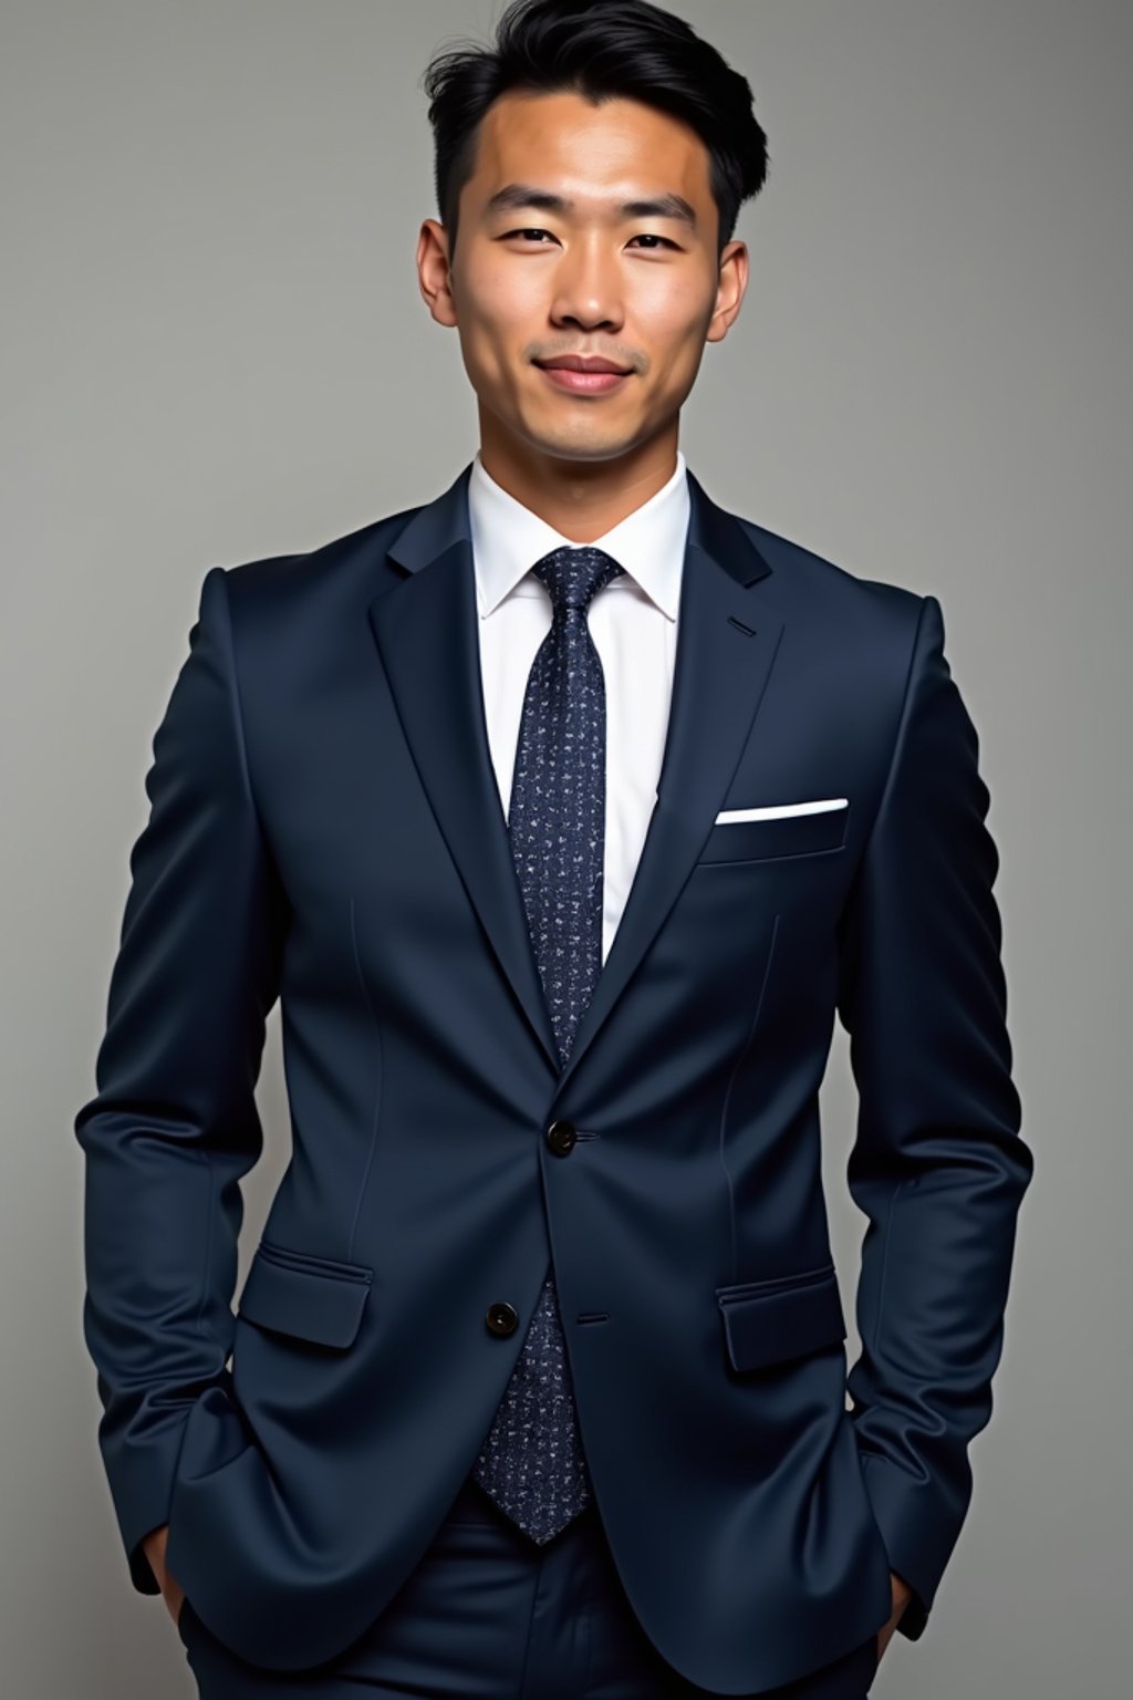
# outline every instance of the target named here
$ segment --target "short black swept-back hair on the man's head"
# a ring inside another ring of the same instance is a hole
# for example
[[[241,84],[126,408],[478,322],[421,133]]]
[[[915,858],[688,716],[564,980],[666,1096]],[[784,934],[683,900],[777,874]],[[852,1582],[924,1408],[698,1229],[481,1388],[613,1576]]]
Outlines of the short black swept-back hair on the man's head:
[[[510,88],[572,88],[595,104],[623,97],[690,124],[712,155],[717,260],[742,202],[759,194],[768,175],[768,138],[747,78],[685,19],[649,0],[511,0],[494,48],[465,41],[435,54],[421,87],[430,99],[433,182],[450,258],[481,119]]]

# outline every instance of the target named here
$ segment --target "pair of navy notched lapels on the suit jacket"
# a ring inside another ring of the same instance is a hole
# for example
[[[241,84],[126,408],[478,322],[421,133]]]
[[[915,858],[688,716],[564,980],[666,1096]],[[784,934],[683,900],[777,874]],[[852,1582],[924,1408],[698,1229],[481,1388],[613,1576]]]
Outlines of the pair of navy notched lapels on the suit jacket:
[[[370,602],[369,615],[437,823],[499,966],[559,1073],[484,719],[469,474],[471,466],[397,536],[389,558],[406,576]],[[703,848],[783,631],[763,597],[771,568],[691,473],[688,483],[691,512],[657,804],[561,1085],[613,1010]]]

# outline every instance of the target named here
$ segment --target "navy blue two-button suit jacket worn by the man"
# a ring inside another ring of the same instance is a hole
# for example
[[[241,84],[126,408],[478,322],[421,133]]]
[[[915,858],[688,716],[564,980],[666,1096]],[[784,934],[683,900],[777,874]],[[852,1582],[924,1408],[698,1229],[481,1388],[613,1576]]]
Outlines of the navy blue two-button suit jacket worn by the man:
[[[328,1659],[428,1545],[554,1256],[629,1598],[691,1681],[746,1693],[877,1630],[890,1567],[916,1639],[970,1499],[1031,1175],[977,736],[934,597],[690,476],[657,804],[559,1071],[484,722],[469,471],[204,578],[76,1119],[102,1455],[143,1593],[168,1522],[224,1642]],[[715,821],[829,797],[849,808]],[[277,998],[294,1151],[233,1314]],[[868,1217],[849,1377],[817,1108],[836,1013]]]

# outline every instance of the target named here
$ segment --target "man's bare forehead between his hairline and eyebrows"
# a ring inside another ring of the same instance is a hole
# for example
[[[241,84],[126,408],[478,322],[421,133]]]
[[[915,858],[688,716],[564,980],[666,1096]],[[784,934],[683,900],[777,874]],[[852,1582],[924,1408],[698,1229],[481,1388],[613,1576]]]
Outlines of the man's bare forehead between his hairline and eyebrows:
[[[642,100],[595,105],[572,90],[508,90],[484,114],[467,187],[479,204],[521,178],[561,190],[581,211],[654,192],[676,192],[707,209],[710,163],[690,124]]]

